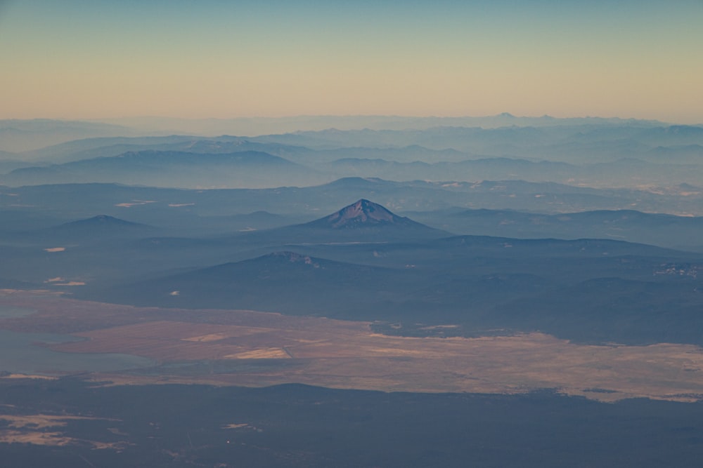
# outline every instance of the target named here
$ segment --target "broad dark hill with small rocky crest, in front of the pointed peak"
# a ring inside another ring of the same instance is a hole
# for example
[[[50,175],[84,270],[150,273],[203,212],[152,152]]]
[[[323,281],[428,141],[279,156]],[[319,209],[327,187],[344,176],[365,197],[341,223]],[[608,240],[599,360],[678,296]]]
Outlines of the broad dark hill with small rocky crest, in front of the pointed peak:
[[[114,288],[115,302],[165,307],[259,309],[373,320],[406,272],[277,252]],[[101,295],[103,297],[103,295]]]

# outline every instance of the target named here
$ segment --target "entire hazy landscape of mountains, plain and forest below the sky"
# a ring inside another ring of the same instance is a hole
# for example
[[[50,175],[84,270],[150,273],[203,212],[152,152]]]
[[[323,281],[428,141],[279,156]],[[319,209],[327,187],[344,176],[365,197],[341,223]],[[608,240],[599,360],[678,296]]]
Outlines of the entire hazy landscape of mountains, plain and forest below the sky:
[[[658,121],[0,121],[1,459],[697,466],[701,180]]]

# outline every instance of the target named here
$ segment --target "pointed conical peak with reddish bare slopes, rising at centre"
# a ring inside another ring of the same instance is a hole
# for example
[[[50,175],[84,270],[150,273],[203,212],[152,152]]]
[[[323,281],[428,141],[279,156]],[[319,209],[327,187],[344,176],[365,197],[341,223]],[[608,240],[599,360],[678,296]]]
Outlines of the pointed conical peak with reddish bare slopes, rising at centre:
[[[401,218],[378,203],[361,199],[345,206],[337,213],[309,222],[310,227],[329,227],[332,229],[361,229],[367,227],[406,226],[420,227],[419,222]]]

